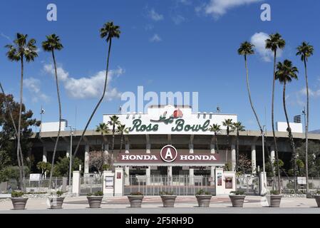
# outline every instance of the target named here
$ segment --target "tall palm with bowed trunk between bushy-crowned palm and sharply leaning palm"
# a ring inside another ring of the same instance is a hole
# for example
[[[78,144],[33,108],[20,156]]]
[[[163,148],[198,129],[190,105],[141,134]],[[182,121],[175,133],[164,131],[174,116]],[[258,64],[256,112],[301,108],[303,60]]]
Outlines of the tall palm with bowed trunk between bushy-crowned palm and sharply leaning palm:
[[[56,36],[56,34],[51,34],[46,36],[46,41],[42,42],[42,48],[43,51],[51,52],[52,59],[53,59],[53,66],[54,66],[54,73],[56,76],[56,90],[58,95],[58,111],[59,111],[59,128],[58,128],[58,135],[56,138],[56,143],[53,148],[53,155],[52,155],[52,162],[51,162],[51,172],[50,172],[50,179],[49,179],[49,189],[51,189],[51,180],[52,180],[52,174],[53,174],[53,166],[54,166],[54,160],[56,158],[56,149],[58,146],[59,136],[61,132],[61,100],[60,100],[60,91],[59,91],[59,82],[58,82],[58,74],[57,74],[57,66],[56,66],[56,57],[54,56],[54,51],[60,51],[63,48],[63,45],[60,42],[59,36]]]

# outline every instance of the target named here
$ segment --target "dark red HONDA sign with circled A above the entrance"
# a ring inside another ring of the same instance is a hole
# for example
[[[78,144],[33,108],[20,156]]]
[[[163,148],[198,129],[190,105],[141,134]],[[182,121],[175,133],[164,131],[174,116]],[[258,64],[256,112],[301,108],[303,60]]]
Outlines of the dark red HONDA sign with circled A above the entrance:
[[[223,152],[179,153],[172,145],[165,145],[158,154],[128,153],[118,155],[115,163],[223,163]],[[221,159],[222,158],[222,159]]]

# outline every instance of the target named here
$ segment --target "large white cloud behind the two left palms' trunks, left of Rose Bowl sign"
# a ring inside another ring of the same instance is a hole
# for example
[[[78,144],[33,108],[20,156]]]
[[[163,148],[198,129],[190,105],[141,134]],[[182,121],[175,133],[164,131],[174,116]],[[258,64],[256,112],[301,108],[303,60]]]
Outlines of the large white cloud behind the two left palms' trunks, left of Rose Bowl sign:
[[[54,76],[54,68],[51,64],[46,64],[43,66],[46,73],[50,73]],[[111,70],[108,73],[107,81],[107,92],[105,93],[105,98],[108,100],[113,100],[113,98],[120,98],[121,93],[117,88],[110,86],[111,81],[114,77],[120,76],[125,71],[123,68],[118,68],[116,70]],[[68,95],[71,98],[81,99],[81,98],[99,98],[103,93],[103,86],[105,83],[105,71],[99,71],[93,76],[82,77],[82,78],[72,78],[69,73],[66,72],[62,67],[57,68],[58,78],[63,82],[63,86],[66,89]]]

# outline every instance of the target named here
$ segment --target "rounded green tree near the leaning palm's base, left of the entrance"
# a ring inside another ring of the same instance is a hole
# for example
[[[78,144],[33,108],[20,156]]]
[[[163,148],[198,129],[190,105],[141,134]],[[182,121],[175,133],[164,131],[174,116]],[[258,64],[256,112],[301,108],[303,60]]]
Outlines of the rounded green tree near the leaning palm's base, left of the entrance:
[[[68,157],[59,157],[58,162],[54,165],[53,176],[68,177],[70,160]],[[76,157],[72,162],[71,172],[78,170],[79,165],[83,166],[83,162]]]

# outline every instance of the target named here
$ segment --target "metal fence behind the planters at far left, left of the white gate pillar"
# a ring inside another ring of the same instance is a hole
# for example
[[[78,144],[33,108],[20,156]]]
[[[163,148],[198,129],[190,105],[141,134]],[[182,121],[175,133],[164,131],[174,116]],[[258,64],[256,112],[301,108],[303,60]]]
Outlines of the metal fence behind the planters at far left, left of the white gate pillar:
[[[66,177],[53,177],[51,181],[51,188],[54,190],[66,191]],[[24,178],[23,181],[25,192],[47,192],[49,187],[49,180],[30,180]],[[10,192],[19,190],[19,182],[15,179],[8,180],[1,183],[1,192]]]

